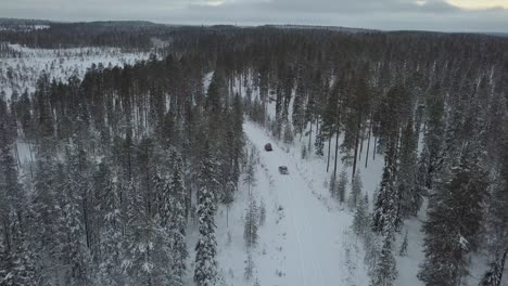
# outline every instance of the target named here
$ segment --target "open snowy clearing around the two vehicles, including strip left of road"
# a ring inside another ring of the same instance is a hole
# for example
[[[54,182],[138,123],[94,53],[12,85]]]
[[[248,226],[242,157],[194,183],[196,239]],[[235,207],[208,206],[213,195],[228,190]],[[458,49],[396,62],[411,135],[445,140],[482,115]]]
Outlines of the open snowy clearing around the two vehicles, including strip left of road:
[[[261,285],[368,285],[360,242],[350,227],[352,213],[333,202],[322,184],[316,188],[295,157],[262,127],[246,122],[244,130],[250,144],[259,150],[257,183],[251,192],[258,206],[265,205],[266,221],[251,250],[255,274],[247,281],[243,238],[246,185],[236,194],[229,213],[220,206],[216,218],[218,262],[227,285],[253,285],[256,278]],[[272,152],[263,150],[266,142],[272,142]],[[288,166],[289,174],[279,173],[281,165]]]

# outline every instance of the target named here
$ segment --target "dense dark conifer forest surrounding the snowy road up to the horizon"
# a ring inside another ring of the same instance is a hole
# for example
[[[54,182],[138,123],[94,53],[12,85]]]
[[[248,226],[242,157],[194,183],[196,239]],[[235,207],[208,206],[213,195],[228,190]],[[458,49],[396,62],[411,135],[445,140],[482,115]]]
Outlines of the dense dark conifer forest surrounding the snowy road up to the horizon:
[[[393,285],[394,237],[422,210],[424,285],[462,285],[479,252],[492,260],[481,285],[506,283],[508,39],[49,25],[0,30],[0,39],[168,44],[163,58],[94,65],[66,82],[42,75],[35,92],[0,98],[0,285],[186,285],[190,220],[200,234],[191,275],[216,285],[215,211],[249,176],[244,118],[287,142],[305,135],[303,153],[327,158],[332,195],[354,208],[372,285]],[[18,166],[17,142],[29,143],[29,166]],[[357,166],[377,155],[384,168],[372,205],[346,198],[338,161],[358,185]]]

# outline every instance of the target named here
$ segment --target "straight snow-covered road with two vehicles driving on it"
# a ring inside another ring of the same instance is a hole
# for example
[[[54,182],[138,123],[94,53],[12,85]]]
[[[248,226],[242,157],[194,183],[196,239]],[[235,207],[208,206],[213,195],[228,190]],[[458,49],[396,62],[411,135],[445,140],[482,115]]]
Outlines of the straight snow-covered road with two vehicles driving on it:
[[[276,193],[274,196],[283,208],[284,221],[276,227],[280,227],[279,231],[284,233],[281,243],[284,275],[277,285],[366,285],[363,277],[354,277],[356,273],[351,273],[351,259],[346,259],[351,253],[346,253],[344,249],[344,245],[348,244],[345,239],[351,240],[351,236],[346,235],[351,225],[351,214],[327,208],[299,173],[295,159],[270,140],[263,129],[246,122],[244,131],[261,151],[261,161],[272,181],[271,187]],[[271,142],[272,152],[264,151],[267,142]],[[288,166],[289,174],[278,172],[281,165]],[[257,263],[261,266],[264,264],[263,261]],[[363,266],[353,266],[358,268]]]

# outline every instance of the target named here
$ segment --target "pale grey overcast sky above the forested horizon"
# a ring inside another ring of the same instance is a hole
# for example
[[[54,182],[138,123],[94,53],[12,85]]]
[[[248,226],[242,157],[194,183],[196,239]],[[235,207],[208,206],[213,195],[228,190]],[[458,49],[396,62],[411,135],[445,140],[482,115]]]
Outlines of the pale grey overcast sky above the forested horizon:
[[[508,0],[0,0],[0,17],[508,32]]]

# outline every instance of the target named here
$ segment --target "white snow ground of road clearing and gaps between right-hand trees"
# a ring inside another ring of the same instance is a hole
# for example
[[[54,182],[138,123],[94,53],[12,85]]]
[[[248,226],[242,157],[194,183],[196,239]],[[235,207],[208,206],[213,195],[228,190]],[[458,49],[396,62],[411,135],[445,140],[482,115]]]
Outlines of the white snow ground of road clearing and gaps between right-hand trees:
[[[207,79],[209,82],[209,75]],[[234,86],[236,92],[241,94],[245,92],[244,88],[239,88],[239,82]],[[252,96],[253,99],[258,96],[258,90],[253,90]],[[292,104],[289,110],[290,117],[291,107]],[[269,104],[267,110],[272,117],[275,104]],[[308,130],[307,127],[306,131]],[[314,154],[314,133],[310,139],[312,152],[307,152],[307,157],[303,159],[302,146],[308,145],[308,135],[296,136],[294,143],[284,144],[272,138],[265,128],[250,121],[245,122],[244,131],[250,142],[261,151],[258,182],[253,194],[257,204],[265,202],[267,219],[259,229],[258,246],[252,251],[256,275],[252,281],[246,281],[243,277],[246,262],[243,226],[249,203],[246,187],[240,187],[237,194],[229,210],[228,225],[226,225],[226,209],[220,206],[217,214],[218,260],[228,285],[253,285],[256,277],[261,285],[369,285],[370,280],[364,261],[364,243],[351,231],[353,210],[331,198],[328,190],[334,165],[335,139],[331,140],[332,156],[330,172],[327,172],[327,157]],[[422,136],[421,134],[419,148]],[[267,142],[274,145],[274,152],[264,151],[263,147]],[[339,144],[341,143],[342,138],[339,140]],[[373,138],[367,154],[367,143],[365,140],[363,151],[359,152],[358,169],[364,194],[369,195],[372,206],[373,193],[381,182],[384,157],[381,154],[373,154]],[[328,151],[328,142],[325,143],[323,150],[325,153]],[[366,156],[369,156],[367,166]],[[288,166],[289,176],[279,174],[277,168],[280,165]],[[339,158],[338,173],[342,170],[347,172],[351,182],[352,167],[344,166]],[[351,184],[347,185],[347,192],[350,191]],[[417,274],[424,259],[424,234],[421,226],[427,219],[426,214],[427,202],[418,218],[406,220],[404,229],[397,234],[393,248],[398,272],[395,285],[423,285],[417,278]],[[399,257],[398,250],[406,231],[407,256]],[[478,285],[485,269],[485,257],[481,253],[473,255],[469,268],[470,274],[463,281],[465,285]]]

